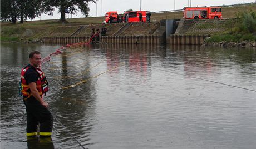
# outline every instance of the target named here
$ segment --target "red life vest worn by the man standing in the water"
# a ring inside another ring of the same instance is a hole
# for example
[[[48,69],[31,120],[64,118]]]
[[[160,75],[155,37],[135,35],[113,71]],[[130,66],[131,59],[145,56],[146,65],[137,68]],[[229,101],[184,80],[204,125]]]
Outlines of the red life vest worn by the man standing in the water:
[[[30,88],[24,78],[25,73],[28,69],[33,69],[35,70],[35,72],[37,72],[38,80],[36,81],[36,88],[40,96],[42,96],[43,94],[45,94],[46,96],[46,92],[48,92],[48,82],[46,80],[45,73],[43,73],[39,68],[35,68],[29,64],[21,70],[21,92],[23,95],[23,99],[26,100],[27,98],[32,96]]]

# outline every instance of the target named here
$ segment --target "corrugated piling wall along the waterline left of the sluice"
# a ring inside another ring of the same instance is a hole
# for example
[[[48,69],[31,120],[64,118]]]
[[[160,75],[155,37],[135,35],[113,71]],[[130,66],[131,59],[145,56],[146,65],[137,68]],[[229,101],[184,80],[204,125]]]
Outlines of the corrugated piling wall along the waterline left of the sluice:
[[[44,43],[50,44],[70,44],[77,42],[88,42],[90,37],[45,37]],[[164,37],[156,35],[146,36],[102,36],[100,42],[110,44],[163,44]]]

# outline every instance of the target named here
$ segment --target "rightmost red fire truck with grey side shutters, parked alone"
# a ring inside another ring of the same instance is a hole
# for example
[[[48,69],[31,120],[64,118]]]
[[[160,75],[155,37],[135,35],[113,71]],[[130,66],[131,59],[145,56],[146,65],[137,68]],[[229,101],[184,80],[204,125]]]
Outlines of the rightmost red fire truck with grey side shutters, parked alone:
[[[184,7],[185,19],[221,19],[221,7]]]

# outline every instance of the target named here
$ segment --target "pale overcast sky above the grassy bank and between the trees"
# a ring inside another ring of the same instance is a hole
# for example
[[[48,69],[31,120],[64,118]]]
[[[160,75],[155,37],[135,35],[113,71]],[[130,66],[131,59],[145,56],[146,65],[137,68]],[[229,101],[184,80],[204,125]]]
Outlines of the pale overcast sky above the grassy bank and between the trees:
[[[256,0],[215,0],[215,1],[203,1],[203,0],[97,0],[96,3],[89,3],[90,17],[102,16],[108,11],[117,11],[118,13],[123,13],[127,9],[133,9],[134,11],[139,11],[143,9],[145,11],[171,11],[174,9],[183,9],[183,7],[188,7],[188,4],[192,6],[221,6],[223,4],[238,4],[238,3],[251,3],[256,2]],[[97,9],[96,9],[97,8]],[[66,14],[66,18],[81,18],[85,17],[81,12],[72,15]],[[40,19],[59,19],[60,14],[57,13],[57,9],[53,16],[48,16],[47,14],[42,14]]]

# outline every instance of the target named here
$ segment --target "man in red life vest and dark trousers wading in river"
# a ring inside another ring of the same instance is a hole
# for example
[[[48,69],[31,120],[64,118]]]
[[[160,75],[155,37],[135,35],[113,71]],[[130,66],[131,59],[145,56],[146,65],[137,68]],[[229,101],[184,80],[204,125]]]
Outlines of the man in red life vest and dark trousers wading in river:
[[[29,54],[29,62],[21,71],[21,86],[23,102],[27,112],[27,136],[50,137],[53,126],[53,116],[43,100],[48,91],[48,82],[45,73],[38,67],[41,63],[41,54],[33,51]],[[37,134],[37,125],[40,125]]]

